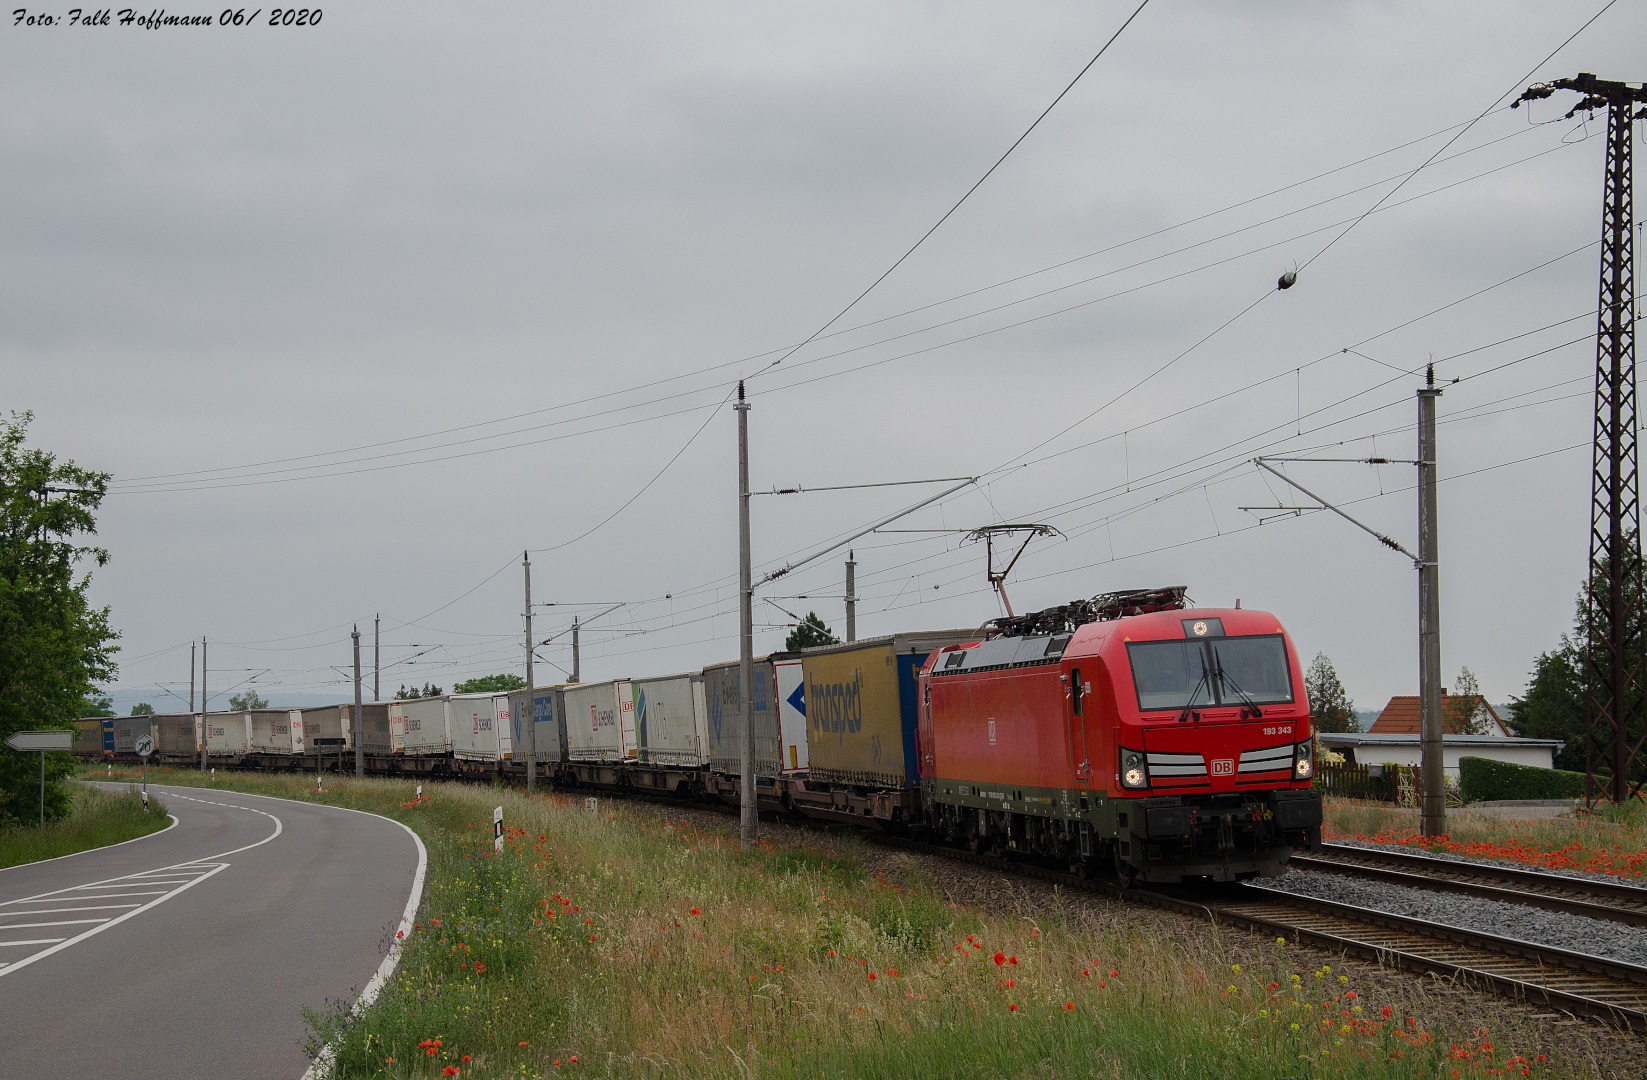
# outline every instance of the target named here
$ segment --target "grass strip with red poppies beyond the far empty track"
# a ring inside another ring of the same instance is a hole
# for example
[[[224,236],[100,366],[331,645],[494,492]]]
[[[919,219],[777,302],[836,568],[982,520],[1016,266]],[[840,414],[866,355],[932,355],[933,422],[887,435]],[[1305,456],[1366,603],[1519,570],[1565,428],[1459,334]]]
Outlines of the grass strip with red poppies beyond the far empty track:
[[[1537,869],[1647,878],[1647,812],[1639,798],[1627,807],[1609,805],[1596,818],[1517,822],[1449,810],[1446,825],[1446,835],[1426,838],[1418,831],[1416,810],[1329,798],[1321,836],[1505,859]]]

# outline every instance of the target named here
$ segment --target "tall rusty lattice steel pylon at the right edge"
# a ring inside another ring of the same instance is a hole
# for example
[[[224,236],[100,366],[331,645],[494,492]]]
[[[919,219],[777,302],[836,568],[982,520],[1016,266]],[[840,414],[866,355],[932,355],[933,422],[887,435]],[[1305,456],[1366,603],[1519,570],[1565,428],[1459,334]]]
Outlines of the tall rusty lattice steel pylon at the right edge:
[[[1642,759],[1642,555],[1635,456],[1635,280],[1631,244],[1632,122],[1647,115],[1647,89],[1581,72],[1528,87],[1523,100],[1578,91],[1568,110],[1607,114],[1607,168],[1601,211],[1601,296],[1596,316],[1596,445],[1591,459],[1589,581],[1584,594],[1586,800],[1624,802]]]

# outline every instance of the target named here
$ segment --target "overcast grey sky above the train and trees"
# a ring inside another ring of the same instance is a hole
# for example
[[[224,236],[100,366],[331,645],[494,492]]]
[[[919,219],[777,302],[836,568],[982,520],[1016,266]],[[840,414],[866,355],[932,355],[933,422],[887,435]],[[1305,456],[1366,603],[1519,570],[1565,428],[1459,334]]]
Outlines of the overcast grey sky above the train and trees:
[[[756,489],[982,476],[894,528],[1054,525],[1018,611],[1240,598],[1377,708],[1416,688],[1411,563],[1327,514],[1260,525],[1309,500],[1248,461],[1413,458],[1403,370],[1435,357],[1443,668],[1504,701],[1588,556],[1604,158],[1560,97],[1504,104],[1601,2],[1153,0],[769,370],[1135,3],[12,25],[0,408],[114,474],[92,594],[156,708],[203,634],[217,690],[352,693],[331,665],[377,612],[385,695],[520,672],[524,548],[537,601],[598,604],[539,637],[626,604],[586,680],[735,657],[740,375]],[[1647,77],[1644,30],[1621,2],[1535,77]],[[1286,469],[1416,547],[1410,464]],[[756,499],[759,573],[942,489]],[[860,637],[1000,614],[962,533],[855,550]],[[784,609],[845,629],[843,558],[763,591],[759,652]]]

